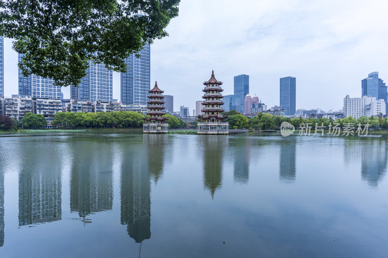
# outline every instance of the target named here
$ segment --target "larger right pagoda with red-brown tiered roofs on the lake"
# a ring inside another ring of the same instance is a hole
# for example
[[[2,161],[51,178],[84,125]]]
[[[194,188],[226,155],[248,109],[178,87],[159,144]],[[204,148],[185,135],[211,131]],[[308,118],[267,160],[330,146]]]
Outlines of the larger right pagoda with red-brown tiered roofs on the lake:
[[[227,121],[228,116],[222,115],[224,112],[222,99],[224,98],[221,94],[222,82],[217,81],[214,77],[214,71],[211,71],[210,80],[203,83],[205,92],[202,98],[202,115],[198,115],[198,134],[209,134],[209,135],[221,135],[228,134],[229,123]]]

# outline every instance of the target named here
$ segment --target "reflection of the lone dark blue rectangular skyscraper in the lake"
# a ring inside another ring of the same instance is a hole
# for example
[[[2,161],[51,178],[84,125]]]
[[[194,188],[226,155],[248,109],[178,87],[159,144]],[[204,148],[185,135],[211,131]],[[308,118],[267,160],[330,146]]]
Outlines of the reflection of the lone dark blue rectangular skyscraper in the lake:
[[[280,144],[280,182],[293,183],[296,178],[296,139],[290,138]]]

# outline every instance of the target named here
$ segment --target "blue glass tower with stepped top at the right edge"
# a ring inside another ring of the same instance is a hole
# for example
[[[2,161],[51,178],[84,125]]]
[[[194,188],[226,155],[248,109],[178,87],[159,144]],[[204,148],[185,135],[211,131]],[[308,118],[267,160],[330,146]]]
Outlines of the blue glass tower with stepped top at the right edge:
[[[376,100],[384,99],[386,114],[388,114],[387,86],[379,78],[379,72],[370,73],[368,78],[361,80],[361,96],[364,95],[375,97]]]

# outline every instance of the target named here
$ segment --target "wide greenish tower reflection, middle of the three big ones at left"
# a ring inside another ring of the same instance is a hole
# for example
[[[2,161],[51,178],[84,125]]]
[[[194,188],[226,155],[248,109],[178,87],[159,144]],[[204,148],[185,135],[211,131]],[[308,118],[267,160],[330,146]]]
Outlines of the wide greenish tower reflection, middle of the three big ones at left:
[[[87,215],[112,210],[113,153],[103,142],[81,142],[73,147],[77,158],[70,172],[70,212],[78,212],[87,223]]]

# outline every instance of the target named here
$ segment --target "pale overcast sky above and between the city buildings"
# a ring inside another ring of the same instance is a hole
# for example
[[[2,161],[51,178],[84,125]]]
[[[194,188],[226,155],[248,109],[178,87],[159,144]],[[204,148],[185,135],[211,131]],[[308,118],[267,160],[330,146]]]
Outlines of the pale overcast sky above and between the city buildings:
[[[368,73],[388,82],[387,11],[385,0],[181,0],[169,37],[151,46],[151,86],[157,80],[174,110],[192,112],[212,69],[224,94],[233,94],[233,76],[249,75],[249,93],[267,106],[279,105],[279,78],[294,76],[296,108],[338,110],[345,95],[360,97]],[[4,47],[9,96],[17,94],[17,54],[11,39]]]

